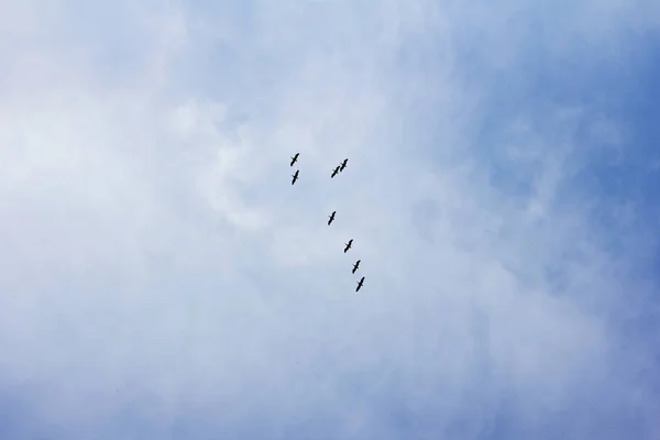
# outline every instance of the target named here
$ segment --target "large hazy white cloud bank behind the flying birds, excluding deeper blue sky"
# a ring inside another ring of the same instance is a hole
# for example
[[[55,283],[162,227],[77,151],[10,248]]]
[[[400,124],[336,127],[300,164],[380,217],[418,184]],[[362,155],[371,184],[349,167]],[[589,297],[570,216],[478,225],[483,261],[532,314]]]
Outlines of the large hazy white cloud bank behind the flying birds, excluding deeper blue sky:
[[[242,26],[215,29],[215,15],[153,18],[144,3],[120,14],[139,38],[122,50],[144,57],[114,67],[121,81],[99,80],[94,38],[75,56],[47,45],[62,36],[48,24],[77,15],[32,15],[52,33],[33,26],[36,50],[0,52],[12,66],[0,89],[0,385],[33,389],[31,417],[82,436],[136,406],[158,426],[193,411],[235,432],[263,415],[271,438],[308,420],[333,438],[398,438],[397,406],[432,430],[476,418],[481,397],[486,425],[499,396],[531,426],[576,399],[597,405],[584,396],[603,386],[623,402],[612,408],[652,408],[623,391],[622,336],[606,319],[636,287],[619,278],[630,255],[607,253],[590,207],[562,198],[582,166],[572,123],[586,117],[510,122],[498,151],[513,172],[532,168],[531,189],[498,190],[466,148],[480,94],[463,97],[454,55],[418,84],[395,61],[427,33],[451,52],[474,32],[461,23],[499,37],[509,9],[405,4],[255,2],[237,12]],[[519,44],[505,40],[504,67]],[[213,88],[189,76],[213,42],[245,75],[215,89],[226,99],[189,90]],[[425,94],[437,118],[411,123]],[[594,133],[612,130],[601,121]],[[427,136],[430,123],[442,132]],[[417,146],[425,136],[437,145]],[[587,425],[601,414],[583,410]]]

